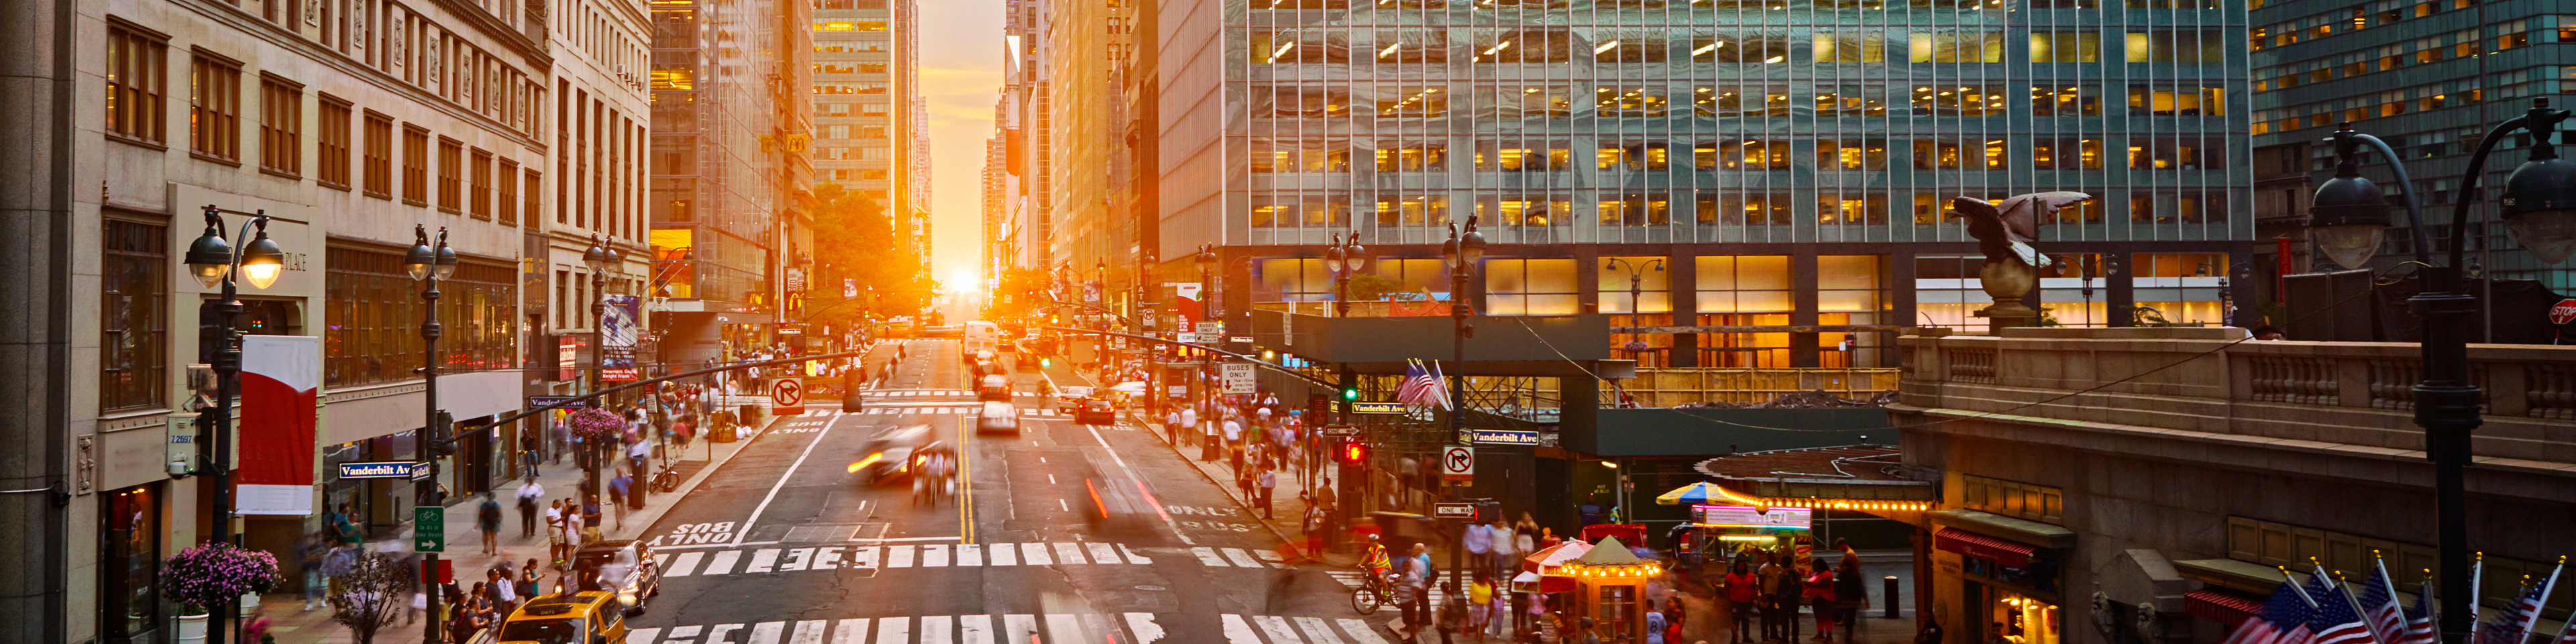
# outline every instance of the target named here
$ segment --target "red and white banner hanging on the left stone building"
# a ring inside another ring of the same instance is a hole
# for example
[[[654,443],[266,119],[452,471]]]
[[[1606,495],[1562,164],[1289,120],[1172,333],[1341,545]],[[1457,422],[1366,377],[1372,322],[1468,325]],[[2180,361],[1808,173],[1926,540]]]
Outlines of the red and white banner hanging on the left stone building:
[[[314,397],[322,392],[322,337],[242,335],[242,399],[234,404],[234,513],[314,513]]]

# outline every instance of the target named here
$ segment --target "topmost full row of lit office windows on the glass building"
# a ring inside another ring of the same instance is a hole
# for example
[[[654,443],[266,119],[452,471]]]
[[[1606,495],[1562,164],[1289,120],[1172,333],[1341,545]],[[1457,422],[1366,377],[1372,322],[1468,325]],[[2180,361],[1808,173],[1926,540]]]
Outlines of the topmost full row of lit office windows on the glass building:
[[[1368,33],[1368,31],[1363,31]],[[1249,31],[1244,54],[1252,64],[1445,64],[1450,59],[1484,64],[1909,64],[1909,62],[2004,62],[2004,28],[1777,28],[1770,33],[1672,36],[1664,28],[1479,28],[1453,46],[1448,31],[1373,31],[1370,44],[1355,44],[1342,28]],[[2218,28],[2130,28],[2112,31],[2030,31],[2027,62],[2226,62],[2233,39]],[[2117,46],[2117,49],[2112,49]],[[1589,52],[1589,54],[1584,54]]]

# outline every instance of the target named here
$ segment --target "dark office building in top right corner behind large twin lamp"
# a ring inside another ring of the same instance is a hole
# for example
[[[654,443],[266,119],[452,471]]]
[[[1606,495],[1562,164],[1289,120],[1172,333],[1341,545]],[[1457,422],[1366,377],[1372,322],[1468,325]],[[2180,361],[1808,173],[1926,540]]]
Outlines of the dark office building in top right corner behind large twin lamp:
[[[2488,198],[2470,209],[2470,229],[2452,232],[2450,211],[2478,139],[2494,124],[2522,116],[2532,98],[2563,93],[2576,23],[2540,3],[2349,3],[2290,0],[2251,10],[2251,134],[2257,211],[2262,240],[2293,240],[2290,268],[2393,268],[2414,250],[2403,216],[2388,232],[2375,265],[2334,265],[2308,252],[2306,216],[2318,183],[2334,175],[2334,147],[2324,142],[2336,124],[2375,134],[2403,157],[2427,216],[2445,224],[2432,232],[2439,247],[2463,240],[2470,258],[2494,278],[2540,281],[2555,291],[2576,289],[2576,270],[2543,265],[2519,252],[2496,219],[2494,196],[2522,165],[2522,144],[2499,147],[2478,185]],[[2519,139],[2517,139],[2519,142]],[[2365,152],[2365,175],[2401,193],[2393,175]],[[2434,209],[2439,206],[2439,209]],[[2496,252],[2501,250],[2501,252]],[[2264,273],[2277,273],[2275,247],[2262,250]]]

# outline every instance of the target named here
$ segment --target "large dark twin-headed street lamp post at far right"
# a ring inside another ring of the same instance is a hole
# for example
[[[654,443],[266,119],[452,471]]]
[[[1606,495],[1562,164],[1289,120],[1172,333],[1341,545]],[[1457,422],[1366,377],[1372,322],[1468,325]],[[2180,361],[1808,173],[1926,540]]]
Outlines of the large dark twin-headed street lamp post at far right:
[[[2458,204],[2452,232],[2468,229],[2468,209],[2478,198],[2486,155],[2519,129],[2530,134],[2532,157],[2504,180],[2501,216],[2524,250],[2543,263],[2563,263],[2576,252],[2576,162],[2561,160],[2558,149],[2550,147],[2550,137],[2558,134],[2558,124],[2568,118],[2568,111],[2550,108],[2548,98],[2532,103],[2530,111],[2496,124],[2478,142],[2478,152],[2468,160],[2468,173],[2463,173],[2460,191],[2452,198]],[[2450,263],[2434,265],[2424,209],[2419,206],[2421,198],[2416,198],[2419,191],[2414,191],[2414,180],[2406,175],[2398,155],[2378,137],[2352,131],[2352,124],[2339,124],[2331,142],[2336,157],[2334,178],[2316,188],[2308,227],[2316,234],[2318,250],[2334,258],[2334,263],[2344,268],[2367,263],[2391,224],[2388,198],[2360,173],[2360,149],[2378,149],[2406,191],[2414,263],[2421,265],[2416,270],[2421,291],[2406,304],[2424,319],[2424,381],[2414,386],[2414,420],[2424,428],[2424,456],[2434,466],[2434,526],[2439,526],[2442,564],[2439,629],[2442,644],[2465,644],[2478,618],[2478,595],[2468,580],[2468,502],[2463,479],[2470,459],[2468,438],[2481,425],[2478,386],[2468,381],[2468,317],[2478,309],[2478,299],[2460,283],[2460,237],[2468,234],[2452,234]]]

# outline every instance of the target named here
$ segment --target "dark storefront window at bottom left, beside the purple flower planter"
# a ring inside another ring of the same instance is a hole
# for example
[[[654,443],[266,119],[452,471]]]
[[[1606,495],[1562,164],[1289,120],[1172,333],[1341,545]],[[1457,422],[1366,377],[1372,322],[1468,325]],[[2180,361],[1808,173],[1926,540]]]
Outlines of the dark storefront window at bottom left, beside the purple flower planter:
[[[160,626],[160,492],[142,484],[103,502],[98,631],[106,641],[149,641]]]

